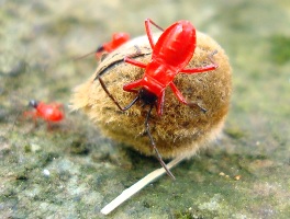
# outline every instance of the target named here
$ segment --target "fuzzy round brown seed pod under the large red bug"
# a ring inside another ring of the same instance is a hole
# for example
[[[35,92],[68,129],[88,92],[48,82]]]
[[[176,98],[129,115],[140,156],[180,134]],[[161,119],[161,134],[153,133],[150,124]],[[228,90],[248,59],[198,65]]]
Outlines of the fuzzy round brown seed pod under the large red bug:
[[[163,158],[182,154],[191,157],[222,130],[232,92],[231,67],[224,50],[211,37],[197,32],[197,48],[187,68],[209,65],[209,55],[214,50],[217,50],[213,56],[219,65],[216,70],[197,74],[180,73],[174,80],[187,101],[199,103],[207,110],[205,113],[198,107],[181,104],[169,88],[165,94],[163,115],[152,112],[150,131]],[[126,112],[121,112],[96,80],[101,74],[108,90],[121,106],[132,102],[136,94],[125,92],[122,88],[125,83],[141,79],[144,69],[124,62],[125,56],[147,64],[152,58],[147,37],[133,39],[109,54],[93,76],[75,89],[72,108],[83,110],[108,137],[143,154],[153,155],[155,152],[144,132],[149,107],[137,102]]]

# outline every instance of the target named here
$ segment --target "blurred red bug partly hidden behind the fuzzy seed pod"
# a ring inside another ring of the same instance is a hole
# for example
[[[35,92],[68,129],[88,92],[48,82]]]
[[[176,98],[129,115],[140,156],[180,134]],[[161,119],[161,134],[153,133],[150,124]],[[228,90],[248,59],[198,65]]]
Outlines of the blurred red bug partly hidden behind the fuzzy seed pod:
[[[112,35],[112,41],[109,43],[104,43],[99,46],[96,50],[96,58],[99,59],[103,51],[111,53],[112,50],[116,49],[119,46],[123,45],[130,39],[127,33],[114,33]]]

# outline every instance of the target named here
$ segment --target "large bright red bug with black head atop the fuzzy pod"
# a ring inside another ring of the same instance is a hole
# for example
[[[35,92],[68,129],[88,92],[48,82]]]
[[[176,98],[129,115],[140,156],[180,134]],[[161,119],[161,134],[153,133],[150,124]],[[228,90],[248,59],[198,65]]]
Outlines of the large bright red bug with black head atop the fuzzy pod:
[[[150,24],[164,32],[156,44],[153,39]],[[145,20],[145,28],[150,47],[153,49],[152,60],[148,64],[143,64],[130,57],[124,58],[124,61],[127,64],[140,68],[145,68],[145,73],[142,79],[130,82],[123,87],[124,91],[136,93],[136,97],[129,105],[122,107],[108,91],[100,76],[97,78],[99,79],[103,90],[121,111],[129,110],[138,100],[141,100],[144,105],[149,105],[149,110],[145,118],[145,130],[149,137],[150,145],[155,150],[160,164],[166,170],[167,174],[171,178],[175,178],[172,173],[167,169],[158,152],[158,149],[156,148],[156,143],[149,130],[149,115],[154,106],[156,107],[157,114],[159,116],[163,114],[165,89],[167,87],[172,90],[177,99],[182,104],[199,107],[205,113],[207,110],[201,107],[198,103],[187,102],[172,81],[178,73],[193,74],[216,69],[217,65],[214,64],[212,59],[212,56],[216,51],[213,51],[211,55],[209,55],[211,65],[200,68],[186,68],[191,60],[197,47],[196,28],[189,21],[178,21],[164,31],[152,20],[147,19]]]

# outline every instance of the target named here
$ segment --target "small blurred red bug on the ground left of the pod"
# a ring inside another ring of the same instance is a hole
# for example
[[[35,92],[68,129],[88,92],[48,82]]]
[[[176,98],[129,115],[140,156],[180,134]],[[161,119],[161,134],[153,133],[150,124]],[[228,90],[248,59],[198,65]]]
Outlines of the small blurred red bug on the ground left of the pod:
[[[37,118],[44,119],[47,123],[47,128],[51,128],[51,123],[57,123],[65,118],[63,104],[45,104],[31,100],[29,105],[32,106],[34,111],[25,112],[24,116],[32,116],[35,123]]]

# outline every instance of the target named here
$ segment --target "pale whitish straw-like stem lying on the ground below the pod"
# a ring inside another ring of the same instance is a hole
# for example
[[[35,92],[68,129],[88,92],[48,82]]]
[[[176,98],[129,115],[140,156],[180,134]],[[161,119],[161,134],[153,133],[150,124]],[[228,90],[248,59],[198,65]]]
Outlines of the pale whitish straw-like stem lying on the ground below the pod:
[[[185,158],[186,158],[185,155],[180,155],[180,157],[175,158],[172,161],[170,161],[167,164],[168,170],[170,170],[171,168],[177,165]],[[120,206],[122,203],[124,203],[131,196],[133,196],[134,194],[140,192],[144,186],[146,186],[147,184],[149,184],[150,182],[153,182],[154,180],[156,180],[157,177],[163,175],[165,172],[166,171],[164,168],[160,168],[160,169],[157,169],[157,170],[150,172],[148,175],[141,178],[137,183],[135,183],[131,187],[124,189],[115,199],[113,199],[111,203],[109,203],[107,206],[104,206],[104,208],[101,209],[101,214],[103,214],[103,215],[110,214],[113,209],[115,209],[118,206]]]

